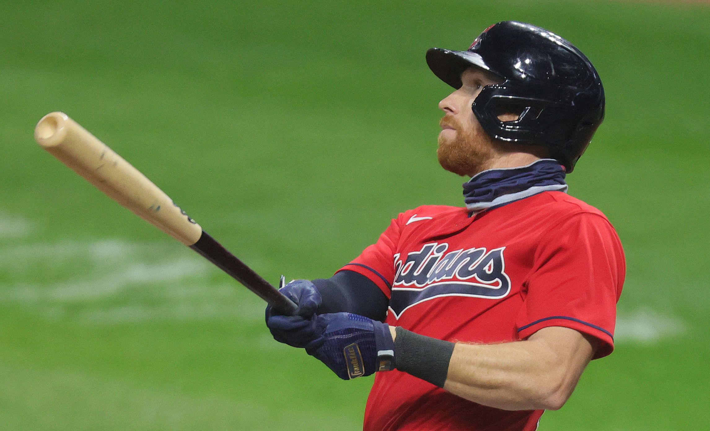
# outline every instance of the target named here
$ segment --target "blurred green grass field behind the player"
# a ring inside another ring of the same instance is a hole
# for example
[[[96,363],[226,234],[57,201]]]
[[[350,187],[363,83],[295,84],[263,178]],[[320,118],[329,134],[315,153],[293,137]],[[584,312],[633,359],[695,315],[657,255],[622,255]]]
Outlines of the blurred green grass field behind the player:
[[[3,1],[0,429],[357,430],[371,378],[33,143],[62,110],[268,278],[328,276],[398,212],[460,205],[431,46],[503,19],[576,43],[608,111],[569,177],[626,247],[620,341],[540,430],[710,429],[710,8],[611,1]]]

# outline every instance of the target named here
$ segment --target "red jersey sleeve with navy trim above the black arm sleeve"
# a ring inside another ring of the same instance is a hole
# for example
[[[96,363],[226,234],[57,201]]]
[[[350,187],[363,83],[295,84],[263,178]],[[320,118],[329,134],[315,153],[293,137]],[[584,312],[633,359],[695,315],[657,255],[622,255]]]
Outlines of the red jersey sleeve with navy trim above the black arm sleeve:
[[[401,218],[392,219],[390,226],[380,235],[375,244],[368,246],[364,251],[339,271],[355,271],[369,278],[380,290],[391,298],[392,283],[395,278],[395,253],[401,234]]]

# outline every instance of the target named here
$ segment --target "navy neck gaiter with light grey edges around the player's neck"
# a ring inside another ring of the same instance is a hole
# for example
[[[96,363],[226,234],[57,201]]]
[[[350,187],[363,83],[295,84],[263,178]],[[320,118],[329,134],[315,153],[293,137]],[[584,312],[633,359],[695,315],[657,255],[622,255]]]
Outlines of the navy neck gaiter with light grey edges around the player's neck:
[[[464,182],[464,202],[476,214],[542,192],[567,192],[565,175],[562,165],[551,158],[518,168],[484,170]]]

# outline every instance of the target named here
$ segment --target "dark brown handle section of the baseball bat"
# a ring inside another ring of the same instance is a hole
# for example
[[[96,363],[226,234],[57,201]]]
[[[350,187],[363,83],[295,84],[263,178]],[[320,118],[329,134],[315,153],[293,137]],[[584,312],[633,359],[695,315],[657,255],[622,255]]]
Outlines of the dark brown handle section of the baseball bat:
[[[218,268],[228,273],[239,283],[243,284],[247,289],[256,293],[261,299],[265,300],[273,307],[278,308],[288,315],[294,315],[298,306],[286,298],[283,293],[280,293],[268,281],[264,280],[261,275],[258,275],[253,269],[246,266],[230,253],[227,249],[219,244],[217,240],[209,236],[207,232],[202,231],[200,239],[190,246],[190,249],[197,251],[208,261],[214,263]]]

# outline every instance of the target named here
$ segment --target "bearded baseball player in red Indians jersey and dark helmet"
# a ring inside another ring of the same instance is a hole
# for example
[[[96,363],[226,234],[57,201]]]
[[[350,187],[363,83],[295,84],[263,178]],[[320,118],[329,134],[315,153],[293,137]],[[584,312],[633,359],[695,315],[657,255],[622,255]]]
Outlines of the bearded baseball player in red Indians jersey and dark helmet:
[[[399,214],[331,278],[282,288],[297,315],[268,307],[266,324],[341,378],[377,372],[366,431],[532,431],[613,350],[621,242],[565,182],[603,120],[601,80],[515,21],[427,64],[454,87],[437,154],[471,177],[465,206]]]

